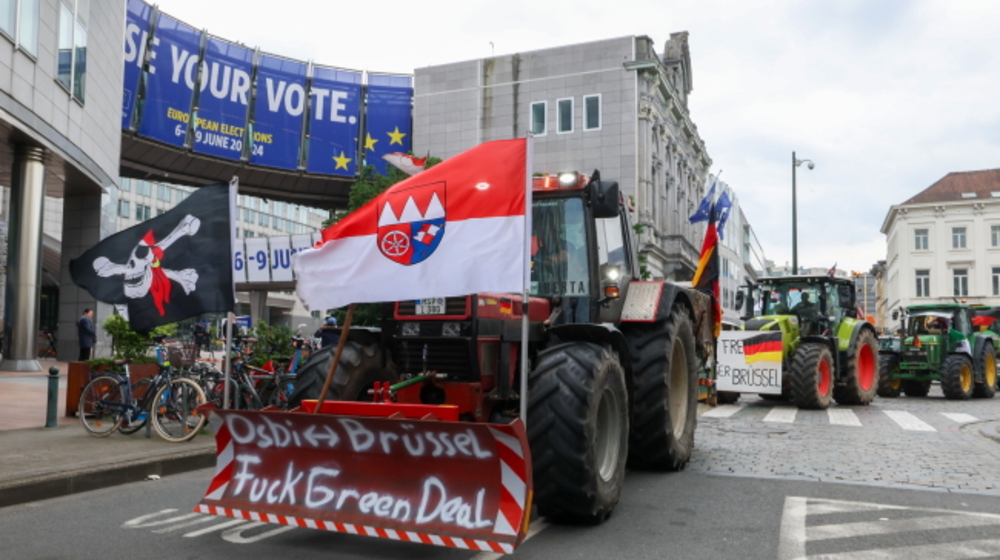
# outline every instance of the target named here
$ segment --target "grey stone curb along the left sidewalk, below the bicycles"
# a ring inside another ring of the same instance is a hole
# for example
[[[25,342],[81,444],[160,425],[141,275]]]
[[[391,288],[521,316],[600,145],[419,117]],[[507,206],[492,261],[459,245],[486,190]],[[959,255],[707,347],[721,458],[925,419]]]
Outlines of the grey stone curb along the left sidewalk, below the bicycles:
[[[145,480],[150,475],[167,476],[213,466],[215,466],[215,449],[208,448],[172,457],[136,461],[118,467],[29,479],[0,488],[0,508],[129,484]]]

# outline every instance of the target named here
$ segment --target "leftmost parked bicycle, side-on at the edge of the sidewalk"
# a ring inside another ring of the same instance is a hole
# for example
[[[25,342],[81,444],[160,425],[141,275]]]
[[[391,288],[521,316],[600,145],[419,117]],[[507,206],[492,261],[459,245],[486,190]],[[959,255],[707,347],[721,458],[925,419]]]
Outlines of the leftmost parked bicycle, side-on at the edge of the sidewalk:
[[[198,435],[208,418],[196,408],[207,402],[197,383],[176,376],[169,362],[161,359],[159,373],[131,383],[128,360],[118,360],[121,372],[95,377],[80,395],[78,415],[92,436],[107,437],[115,430],[124,434],[138,431],[147,419],[167,441],[188,441]]]

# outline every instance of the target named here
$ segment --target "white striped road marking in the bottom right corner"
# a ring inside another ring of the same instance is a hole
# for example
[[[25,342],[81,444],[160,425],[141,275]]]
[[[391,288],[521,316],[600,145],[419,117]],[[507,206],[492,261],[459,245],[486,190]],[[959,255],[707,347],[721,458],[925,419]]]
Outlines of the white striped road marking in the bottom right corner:
[[[786,496],[778,558],[993,558],[997,529],[993,513]]]

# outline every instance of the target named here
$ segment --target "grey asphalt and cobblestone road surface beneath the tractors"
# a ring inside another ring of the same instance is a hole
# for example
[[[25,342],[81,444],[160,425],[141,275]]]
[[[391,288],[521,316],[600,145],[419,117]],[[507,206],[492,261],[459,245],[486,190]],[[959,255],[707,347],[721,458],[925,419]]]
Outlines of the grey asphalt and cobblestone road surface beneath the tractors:
[[[932,393],[933,395],[933,393]],[[700,417],[680,473],[630,472],[597,527],[548,525],[518,558],[1000,557],[1000,402],[796,411],[745,397]],[[212,472],[0,509],[0,558],[486,560],[425,545],[191,513]]]

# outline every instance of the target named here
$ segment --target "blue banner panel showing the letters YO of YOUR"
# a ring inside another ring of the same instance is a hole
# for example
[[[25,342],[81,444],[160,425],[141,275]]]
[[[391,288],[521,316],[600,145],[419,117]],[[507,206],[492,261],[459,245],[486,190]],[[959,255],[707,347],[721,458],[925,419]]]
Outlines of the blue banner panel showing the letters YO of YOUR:
[[[146,74],[146,98],[139,134],[183,147],[191,118],[191,93],[197,75],[201,32],[160,15],[153,34]]]

